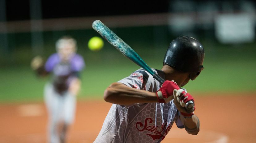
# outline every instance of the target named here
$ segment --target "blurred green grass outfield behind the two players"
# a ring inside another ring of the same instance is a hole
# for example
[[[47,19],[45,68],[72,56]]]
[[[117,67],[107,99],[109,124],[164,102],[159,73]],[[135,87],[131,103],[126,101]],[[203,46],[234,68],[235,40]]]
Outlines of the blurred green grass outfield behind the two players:
[[[255,50],[250,49],[252,48],[247,48],[247,52],[237,48],[233,52],[230,52],[230,49],[215,49],[214,54],[206,49],[205,69],[185,88],[190,93],[205,93],[205,95],[212,92],[216,94],[255,92],[256,58]],[[242,55],[241,51],[243,51]],[[164,52],[160,50],[160,55]],[[89,55],[84,57],[87,67],[81,74],[83,83],[79,98],[100,98],[109,84],[129,76],[140,68],[115,49],[109,52],[89,53]],[[155,56],[152,52],[140,55],[152,68],[161,68],[162,56]],[[49,77],[44,79],[36,77],[28,65],[0,70],[1,102],[43,99],[43,86]]]

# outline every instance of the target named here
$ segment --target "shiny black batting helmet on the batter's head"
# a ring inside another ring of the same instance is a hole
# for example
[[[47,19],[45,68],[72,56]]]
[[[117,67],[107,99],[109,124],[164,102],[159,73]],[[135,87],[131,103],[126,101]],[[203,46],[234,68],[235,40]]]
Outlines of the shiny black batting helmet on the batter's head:
[[[192,37],[175,38],[164,56],[164,63],[182,72],[189,72],[194,80],[203,70],[204,49],[202,44]]]

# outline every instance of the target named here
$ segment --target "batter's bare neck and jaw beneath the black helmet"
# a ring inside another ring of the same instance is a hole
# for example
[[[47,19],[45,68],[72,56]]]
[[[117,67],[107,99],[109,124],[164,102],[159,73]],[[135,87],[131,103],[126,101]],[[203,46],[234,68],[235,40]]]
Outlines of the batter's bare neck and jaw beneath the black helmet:
[[[164,72],[165,80],[169,80],[169,81],[174,80],[177,83],[177,85],[179,85],[179,86],[181,86],[182,83],[187,78],[186,73],[181,73],[167,65],[163,66],[163,68],[161,70]]]

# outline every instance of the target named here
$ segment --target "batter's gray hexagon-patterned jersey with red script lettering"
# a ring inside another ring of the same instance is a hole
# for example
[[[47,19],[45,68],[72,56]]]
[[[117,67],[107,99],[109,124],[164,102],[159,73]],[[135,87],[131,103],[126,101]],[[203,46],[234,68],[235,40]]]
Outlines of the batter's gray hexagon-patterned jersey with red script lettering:
[[[160,70],[152,69],[164,78]],[[156,92],[160,83],[144,69],[139,69],[118,82],[129,87]],[[175,122],[183,128],[173,103],[113,104],[94,143],[159,143]]]

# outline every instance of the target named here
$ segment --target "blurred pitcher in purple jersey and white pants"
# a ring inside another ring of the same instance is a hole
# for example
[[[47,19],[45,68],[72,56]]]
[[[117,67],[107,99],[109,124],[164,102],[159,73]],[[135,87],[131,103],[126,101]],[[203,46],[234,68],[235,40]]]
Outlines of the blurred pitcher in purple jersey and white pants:
[[[52,73],[44,89],[49,113],[49,143],[64,143],[67,128],[75,117],[76,95],[81,85],[79,72],[85,63],[76,54],[76,41],[71,37],[59,39],[56,50],[57,53],[52,54],[45,63],[41,57],[35,57],[31,66],[40,76]]]

